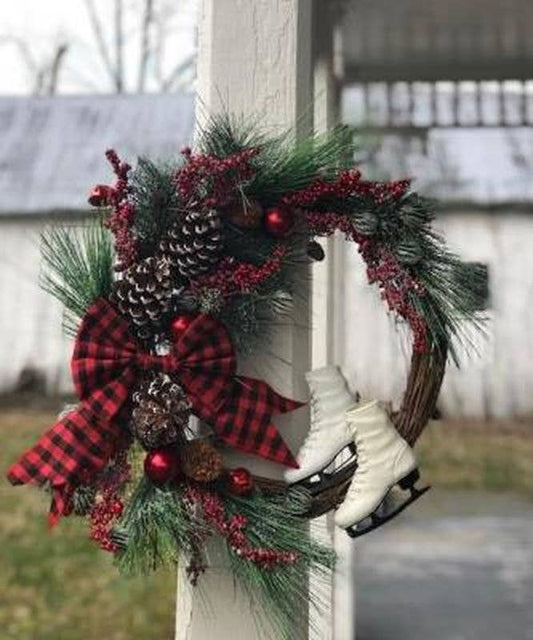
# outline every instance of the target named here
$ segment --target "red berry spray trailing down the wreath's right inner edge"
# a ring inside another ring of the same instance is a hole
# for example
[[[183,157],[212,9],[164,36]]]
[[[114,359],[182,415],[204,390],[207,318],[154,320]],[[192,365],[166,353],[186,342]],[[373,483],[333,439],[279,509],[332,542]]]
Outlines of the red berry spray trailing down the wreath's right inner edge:
[[[422,296],[425,290],[408,269],[374,239],[358,233],[347,215],[310,211],[306,212],[306,219],[313,234],[328,236],[338,230],[358,244],[359,253],[367,266],[368,281],[378,284],[381,297],[389,309],[407,321],[413,332],[414,350],[417,353],[427,351],[427,324],[412,300],[413,295]]]

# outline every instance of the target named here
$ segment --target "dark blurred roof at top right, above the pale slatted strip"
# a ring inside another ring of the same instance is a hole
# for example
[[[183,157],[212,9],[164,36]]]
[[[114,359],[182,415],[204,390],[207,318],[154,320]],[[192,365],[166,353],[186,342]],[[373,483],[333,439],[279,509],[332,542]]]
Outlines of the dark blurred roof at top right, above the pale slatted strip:
[[[531,0],[351,0],[342,29],[348,82],[533,76]]]

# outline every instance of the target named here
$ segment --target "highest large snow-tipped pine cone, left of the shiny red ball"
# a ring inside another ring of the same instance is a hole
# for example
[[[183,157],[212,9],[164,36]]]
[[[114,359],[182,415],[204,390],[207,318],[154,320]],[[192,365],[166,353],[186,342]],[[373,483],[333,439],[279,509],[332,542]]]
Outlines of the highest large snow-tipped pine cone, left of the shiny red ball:
[[[190,211],[171,225],[159,244],[159,252],[188,279],[209,271],[224,246],[222,222],[214,209]]]

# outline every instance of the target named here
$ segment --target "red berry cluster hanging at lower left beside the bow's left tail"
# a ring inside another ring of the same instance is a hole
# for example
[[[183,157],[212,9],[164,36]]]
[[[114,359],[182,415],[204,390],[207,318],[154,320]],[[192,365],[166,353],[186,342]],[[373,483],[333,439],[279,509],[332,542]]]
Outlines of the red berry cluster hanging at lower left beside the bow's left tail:
[[[111,539],[111,531],[124,510],[121,489],[130,477],[125,451],[121,451],[97,482],[98,494],[89,514],[90,538],[104,551],[115,553],[118,548]]]

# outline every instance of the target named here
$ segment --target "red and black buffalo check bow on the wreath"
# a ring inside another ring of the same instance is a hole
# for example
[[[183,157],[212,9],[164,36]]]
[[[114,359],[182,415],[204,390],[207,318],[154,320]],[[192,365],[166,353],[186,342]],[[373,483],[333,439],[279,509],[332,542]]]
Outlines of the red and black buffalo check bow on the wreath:
[[[227,444],[280,464],[297,467],[272,424],[274,413],[302,406],[261,380],[236,376],[236,358],[226,329],[199,315],[172,352],[142,350],[126,320],[104,299],[85,315],[72,356],[80,404],[47,431],[9,470],[12,484],[53,489],[50,512],[57,522],[73,487],[101,471],[123,436],[120,414],[146,370],[177,378],[193,411]]]

